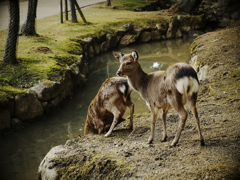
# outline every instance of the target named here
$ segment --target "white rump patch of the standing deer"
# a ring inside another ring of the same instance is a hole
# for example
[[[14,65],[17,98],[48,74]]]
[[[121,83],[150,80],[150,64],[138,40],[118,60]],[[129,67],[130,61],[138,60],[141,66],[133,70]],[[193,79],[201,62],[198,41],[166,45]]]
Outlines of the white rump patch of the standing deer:
[[[181,94],[192,95],[198,92],[199,84],[195,78],[183,77],[177,80],[175,87]]]

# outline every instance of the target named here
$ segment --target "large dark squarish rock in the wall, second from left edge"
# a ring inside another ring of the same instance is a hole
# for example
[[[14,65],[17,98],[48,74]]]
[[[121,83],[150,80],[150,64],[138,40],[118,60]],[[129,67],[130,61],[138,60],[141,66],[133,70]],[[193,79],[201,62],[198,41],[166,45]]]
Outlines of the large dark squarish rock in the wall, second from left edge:
[[[43,115],[43,107],[35,93],[27,92],[15,97],[15,117],[30,120]]]

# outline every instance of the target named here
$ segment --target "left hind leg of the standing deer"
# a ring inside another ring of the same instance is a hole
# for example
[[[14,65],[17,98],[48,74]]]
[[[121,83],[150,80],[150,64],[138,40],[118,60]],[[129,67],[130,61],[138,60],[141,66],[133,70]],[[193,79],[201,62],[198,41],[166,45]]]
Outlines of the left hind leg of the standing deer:
[[[186,119],[187,119],[187,111],[184,109],[183,106],[180,109],[178,109],[177,112],[180,116],[180,121],[179,121],[176,136],[175,136],[174,140],[172,141],[171,146],[175,146],[178,143],[180,135],[182,133],[182,130],[185,127],[185,122],[186,122]]]

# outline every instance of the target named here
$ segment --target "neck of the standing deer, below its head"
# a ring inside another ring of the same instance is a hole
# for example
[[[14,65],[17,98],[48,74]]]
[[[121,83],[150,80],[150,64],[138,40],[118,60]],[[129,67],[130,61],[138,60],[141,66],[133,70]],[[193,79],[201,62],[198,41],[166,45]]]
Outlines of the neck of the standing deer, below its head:
[[[141,91],[144,85],[148,82],[147,77],[147,73],[145,73],[139,66],[134,74],[128,76],[128,82],[136,91]]]

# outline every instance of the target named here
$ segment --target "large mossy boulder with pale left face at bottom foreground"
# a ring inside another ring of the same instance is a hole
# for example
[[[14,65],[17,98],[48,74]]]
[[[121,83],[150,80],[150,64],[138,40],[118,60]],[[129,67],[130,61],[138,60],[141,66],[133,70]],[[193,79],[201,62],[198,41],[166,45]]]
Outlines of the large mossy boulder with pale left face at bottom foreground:
[[[111,155],[87,150],[79,139],[52,148],[38,168],[39,180],[56,179],[129,179],[131,173]],[[87,153],[86,153],[87,152]],[[133,155],[128,153],[129,157]]]

